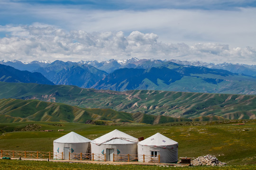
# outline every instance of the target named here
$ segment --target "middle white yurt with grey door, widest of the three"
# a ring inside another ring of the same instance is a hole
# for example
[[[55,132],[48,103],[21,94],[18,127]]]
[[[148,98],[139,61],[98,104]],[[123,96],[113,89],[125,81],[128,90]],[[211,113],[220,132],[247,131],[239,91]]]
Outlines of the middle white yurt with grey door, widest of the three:
[[[96,154],[95,160],[101,160],[98,155],[106,153],[106,161],[113,161],[123,154],[137,154],[138,139],[119,130],[113,130],[91,141],[91,153]]]

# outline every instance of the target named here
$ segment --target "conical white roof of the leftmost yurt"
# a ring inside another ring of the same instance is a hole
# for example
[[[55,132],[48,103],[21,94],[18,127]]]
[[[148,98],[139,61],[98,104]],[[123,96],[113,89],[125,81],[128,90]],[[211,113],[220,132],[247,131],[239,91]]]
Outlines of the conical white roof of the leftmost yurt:
[[[87,139],[86,137],[83,137],[75,132],[70,132],[56,140],[54,140],[55,143],[86,143],[91,142],[90,139]]]

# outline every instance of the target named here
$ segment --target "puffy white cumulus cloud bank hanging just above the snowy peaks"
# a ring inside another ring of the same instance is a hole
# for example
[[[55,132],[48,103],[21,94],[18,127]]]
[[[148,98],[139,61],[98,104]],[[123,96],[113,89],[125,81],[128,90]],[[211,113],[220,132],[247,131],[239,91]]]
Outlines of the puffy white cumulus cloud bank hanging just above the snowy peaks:
[[[166,43],[154,33],[66,31],[34,23],[29,26],[0,26],[0,59],[33,60],[108,60],[179,59],[203,62],[256,64],[256,48],[229,47],[219,43]]]

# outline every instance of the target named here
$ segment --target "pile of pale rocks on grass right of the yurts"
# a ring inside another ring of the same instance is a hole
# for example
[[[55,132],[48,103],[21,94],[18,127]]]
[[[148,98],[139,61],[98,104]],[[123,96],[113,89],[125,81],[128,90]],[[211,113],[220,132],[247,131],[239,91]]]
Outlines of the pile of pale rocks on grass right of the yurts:
[[[215,156],[206,155],[199,156],[198,158],[191,161],[192,166],[225,166],[227,163],[220,162]]]

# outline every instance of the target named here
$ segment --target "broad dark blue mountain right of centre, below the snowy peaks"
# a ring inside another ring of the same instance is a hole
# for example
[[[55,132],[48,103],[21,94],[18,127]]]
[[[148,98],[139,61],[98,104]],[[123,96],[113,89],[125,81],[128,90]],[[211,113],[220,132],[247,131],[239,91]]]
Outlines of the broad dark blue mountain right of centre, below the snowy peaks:
[[[122,68],[92,86],[114,91],[165,90],[198,93],[256,94],[256,78],[221,69],[165,63],[152,68]]]

